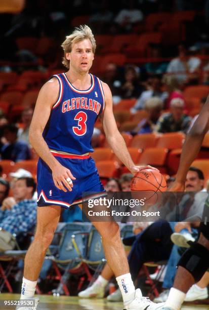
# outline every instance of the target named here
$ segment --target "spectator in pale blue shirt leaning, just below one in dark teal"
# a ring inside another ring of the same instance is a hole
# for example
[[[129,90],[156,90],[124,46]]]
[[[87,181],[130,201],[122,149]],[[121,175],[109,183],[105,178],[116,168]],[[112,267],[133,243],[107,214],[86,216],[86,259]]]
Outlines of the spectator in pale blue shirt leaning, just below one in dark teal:
[[[148,90],[142,92],[136,104],[130,109],[130,111],[136,113],[138,110],[144,109],[146,100],[151,97],[159,97],[164,103],[164,100],[168,97],[168,93],[163,92],[161,87],[162,84],[159,75],[150,78],[148,82]]]

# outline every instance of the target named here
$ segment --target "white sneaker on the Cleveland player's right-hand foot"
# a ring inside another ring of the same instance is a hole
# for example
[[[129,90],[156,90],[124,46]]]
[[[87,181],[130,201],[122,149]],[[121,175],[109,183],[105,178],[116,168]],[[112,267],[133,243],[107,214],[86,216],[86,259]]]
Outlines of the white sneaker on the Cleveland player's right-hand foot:
[[[147,297],[142,297],[141,290],[137,289],[135,298],[129,304],[124,305],[123,310],[158,310],[161,309],[163,304],[157,304]]]

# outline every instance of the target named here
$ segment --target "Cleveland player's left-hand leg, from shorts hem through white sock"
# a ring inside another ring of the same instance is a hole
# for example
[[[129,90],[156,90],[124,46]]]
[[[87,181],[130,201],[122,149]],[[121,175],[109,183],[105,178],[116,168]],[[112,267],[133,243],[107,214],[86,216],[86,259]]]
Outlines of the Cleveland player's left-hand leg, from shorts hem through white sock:
[[[37,208],[35,236],[25,256],[21,299],[28,299],[34,296],[40,269],[47,249],[52,242],[59,222],[60,212],[60,206]]]

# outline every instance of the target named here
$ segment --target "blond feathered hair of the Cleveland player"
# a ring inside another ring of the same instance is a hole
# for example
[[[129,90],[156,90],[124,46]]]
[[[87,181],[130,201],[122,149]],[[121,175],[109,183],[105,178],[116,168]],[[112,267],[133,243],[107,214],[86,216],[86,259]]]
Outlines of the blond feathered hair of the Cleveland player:
[[[80,25],[79,27],[76,27],[75,30],[70,34],[66,36],[65,41],[62,43],[61,47],[64,50],[64,57],[62,60],[62,63],[65,67],[69,68],[69,60],[66,58],[66,53],[70,53],[72,50],[72,44],[89,39],[92,44],[92,51],[95,53],[96,50],[96,41],[94,38],[94,34],[92,33],[92,30],[87,25]]]

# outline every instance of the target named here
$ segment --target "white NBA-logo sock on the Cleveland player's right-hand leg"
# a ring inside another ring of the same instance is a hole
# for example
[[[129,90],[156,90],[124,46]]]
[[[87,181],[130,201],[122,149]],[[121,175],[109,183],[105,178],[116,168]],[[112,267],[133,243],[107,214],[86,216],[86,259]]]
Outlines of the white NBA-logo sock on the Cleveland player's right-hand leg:
[[[132,281],[131,274],[119,276],[116,278],[116,280],[122,294],[123,302],[128,303],[129,301],[134,299],[135,287]]]

